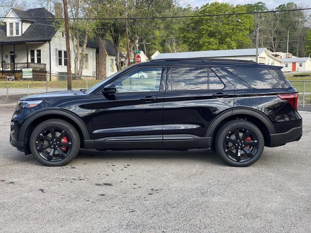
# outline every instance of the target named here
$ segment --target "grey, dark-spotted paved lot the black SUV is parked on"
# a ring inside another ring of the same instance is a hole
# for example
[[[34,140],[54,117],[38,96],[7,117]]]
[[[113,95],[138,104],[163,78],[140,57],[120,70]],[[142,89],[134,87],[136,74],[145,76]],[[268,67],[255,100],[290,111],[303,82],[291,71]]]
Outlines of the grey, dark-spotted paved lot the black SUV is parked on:
[[[253,166],[207,150],[81,150],[42,166],[9,144],[15,103],[0,99],[0,232],[311,232],[311,113],[299,142]]]

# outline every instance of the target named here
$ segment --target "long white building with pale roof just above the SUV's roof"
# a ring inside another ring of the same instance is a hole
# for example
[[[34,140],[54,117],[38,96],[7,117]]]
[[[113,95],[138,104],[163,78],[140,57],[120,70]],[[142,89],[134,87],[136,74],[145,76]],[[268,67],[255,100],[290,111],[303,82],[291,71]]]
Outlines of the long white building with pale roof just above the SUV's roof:
[[[155,53],[158,53],[156,51]],[[281,60],[271,55],[266,48],[258,49],[259,64],[280,66]],[[239,49],[239,50],[209,50],[194,52],[174,52],[159,53],[153,55],[153,60],[165,58],[223,58],[223,59],[239,59],[256,62],[256,49]]]

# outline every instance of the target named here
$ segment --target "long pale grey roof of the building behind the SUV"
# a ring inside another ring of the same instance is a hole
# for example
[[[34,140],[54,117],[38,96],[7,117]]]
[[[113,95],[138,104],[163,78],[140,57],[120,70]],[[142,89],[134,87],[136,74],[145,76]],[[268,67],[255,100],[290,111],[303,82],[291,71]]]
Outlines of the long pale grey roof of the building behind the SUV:
[[[266,48],[259,48],[259,54]],[[236,57],[236,56],[256,56],[256,49],[240,49],[240,50],[209,50],[209,51],[194,51],[194,52],[173,52],[160,53],[156,59],[167,58],[196,58],[196,57]]]

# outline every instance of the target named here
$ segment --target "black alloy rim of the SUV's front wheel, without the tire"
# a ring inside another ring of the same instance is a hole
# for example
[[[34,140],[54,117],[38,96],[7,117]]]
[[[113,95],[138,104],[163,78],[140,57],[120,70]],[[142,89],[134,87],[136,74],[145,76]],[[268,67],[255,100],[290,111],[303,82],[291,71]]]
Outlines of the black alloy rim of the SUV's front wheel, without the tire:
[[[58,126],[43,129],[38,134],[35,143],[36,150],[41,157],[52,162],[65,159],[72,147],[70,134]]]

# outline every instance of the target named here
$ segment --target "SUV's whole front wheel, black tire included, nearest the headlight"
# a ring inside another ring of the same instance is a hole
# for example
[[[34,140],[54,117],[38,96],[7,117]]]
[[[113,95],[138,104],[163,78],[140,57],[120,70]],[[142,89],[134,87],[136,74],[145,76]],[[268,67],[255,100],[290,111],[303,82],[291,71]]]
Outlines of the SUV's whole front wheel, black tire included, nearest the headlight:
[[[29,145],[33,156],[41,164],[63,166],[78,154],[80,136],[69,122],[50,119],[35,127]]]

